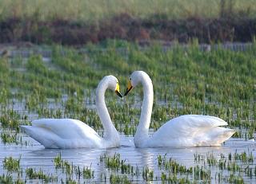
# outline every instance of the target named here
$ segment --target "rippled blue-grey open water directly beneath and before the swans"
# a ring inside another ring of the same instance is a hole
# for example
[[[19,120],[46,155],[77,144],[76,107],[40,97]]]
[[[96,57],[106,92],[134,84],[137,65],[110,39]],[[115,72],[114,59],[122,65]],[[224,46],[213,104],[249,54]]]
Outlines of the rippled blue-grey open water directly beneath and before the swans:
[[[234,153],[237,151],[238,153],[242,153],[243,151],[250,152],[256,157],[256,151],[254,149],[255,143],[250,141],[245,141],[243,139],[229,139],[226,141],[222,147],[162,147],[162,148],[136,148],[134,147],[133,137],[127,137],[121,135],[121,147],[110,148],[110,149],[44,149],[40,143],[34,141],[25,134],[22,134],[22,140],[28,141],[29,146],[21,146],[14,144],[6,144],[0,143],[0,162],[6,158],[12,156],[14,159],[18,159],[21,157],[20,165],[23,170],[26,170],[28,167],[32,168],[42,168],[42,170],[46,174],[54,174],[58,175],[58,182],[62,178],[65,181],[66,174],[63,174],[60,171],[56,171],[54,166],[54,157],[56,157],[59,153],[62,155],[63,160],[67,160],[68,162],[73,162],[75,166],[88,166],[91,167],[91,170],[94,170],[94,178],[88,180],[81,179],[80,182],[104,182],[104,179],[101,178],[101,175],[106,174],[106,181],[109,181],[108,178],[110,174],[114,171],[108,170],[104,164],[104,162],[100,162],[100,157],[103,155],[114,156],[115,153],[119,153],[121,159],[126,160],[126,164],[130,164],[131,166],[138,166],[140,172],[144,166],[148,166],[150,170],[154,170],[154,176],[160,175],[162,170],[158,167],[158,155],[166,155],[166,158],[172,158],[176,162],[184,166],[196,166],[198,163],[194,162],[194,154],[199,155],[207,155],[213,154],[217,159],[220,158],[220,155],[227,155],[229,153]],[[200,164],[199,164],[200,165]],[[238,165],[243,165],[242,162],[238,162]],[[246,165],[246,164],[245,164]],[[255,165],[255,163],[253,163]],[[211,168],[211,176],[212,182],[215,181],[215,173],[218,171],[218,168]],[[6,170],[0,166],[0,174],[6,173]],[[228,175],[226,171],[223,174]],[[14,176],[14,175],[13,175]],[[128,178],[133,182],[143,182],[142,176],[131,176],[127,174]],[[23,179],[25,179],[25,174],[23,174]],[[243,177],[244,182],[254,183],[256,178]],[[73,175],[73,179],[78,181],[75,174]],[[29,180],[30,181],[30,180]],[[33,181],[33,180],[32,180]],[[30,182],[32,182],[30,181]],[[40,182],[41,180],[37,180]],[[35,181],[34,181],[35,182]],[[41,181],[42,182],[42,181]],[[145,182],[145,181],[144,181]],[[154,181],[157,182],[157,181]],[[158,180],[160,183],[161,180]]]

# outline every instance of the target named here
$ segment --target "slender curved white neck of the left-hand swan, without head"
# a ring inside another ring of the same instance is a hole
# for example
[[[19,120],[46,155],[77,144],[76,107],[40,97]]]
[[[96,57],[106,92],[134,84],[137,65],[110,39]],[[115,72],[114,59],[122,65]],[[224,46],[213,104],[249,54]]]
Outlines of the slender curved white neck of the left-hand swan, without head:
[[[106,108],[105,92],[107,88],[108,88],[108,84],[106,83],[106,81],[102,81],[100,84],[98,84],[98,88],[96,90],[96,108],[104,128],[104,139],[114,140],[114,139],[118,139],[117,137],[119,135],[118,135],[118,131],[115,129],[110,119],[110,114]]]

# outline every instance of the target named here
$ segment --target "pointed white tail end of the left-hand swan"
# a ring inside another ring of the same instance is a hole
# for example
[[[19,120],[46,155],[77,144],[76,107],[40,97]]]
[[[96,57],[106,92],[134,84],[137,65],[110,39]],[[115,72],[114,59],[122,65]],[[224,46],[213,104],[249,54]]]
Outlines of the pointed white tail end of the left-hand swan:
[[[27,135],[30,135],[30,137],[41,143],[44,147],[59,148],[56,142],[53,141],[54,139],[59,139],[57,135],[50,134],[45,128],[33,126],[21,126],[21,128]]]

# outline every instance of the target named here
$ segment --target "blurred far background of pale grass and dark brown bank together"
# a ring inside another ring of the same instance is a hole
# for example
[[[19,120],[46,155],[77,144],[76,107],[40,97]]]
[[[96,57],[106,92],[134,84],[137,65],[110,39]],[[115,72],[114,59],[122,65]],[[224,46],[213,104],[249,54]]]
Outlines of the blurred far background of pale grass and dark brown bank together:
[[[106,39],[252,41],[256,6],[214,1],[2,1],[0,42],[85,45]]]

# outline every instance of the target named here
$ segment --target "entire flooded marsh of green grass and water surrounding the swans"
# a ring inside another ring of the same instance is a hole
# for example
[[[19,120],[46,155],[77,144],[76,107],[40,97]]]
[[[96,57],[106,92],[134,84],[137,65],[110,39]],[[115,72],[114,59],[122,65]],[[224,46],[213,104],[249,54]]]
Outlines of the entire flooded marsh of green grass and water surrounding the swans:
[[[142,49],[126,41],[45,49],[50,50],[48,58],[41,54],[0,58],[1,182],[256,180],[254,142],[247,141],[254,139],[256,128],[255,44],[245,52],[205,52],[197,41],[187,49],[178,44],[172,49],[163,50],[162,45]],[[124,92],[134,70],[144,70],[153,80],[151,132],[178,115],[203,114],[226,120],[237,133],[223,147],[136,149],[132,136],[140,115],[141,87],[123,100],[106,92],[110,116],[122,134],[120,148],[44,150],[20,130],[19,125],[33,119],[74,118],[102,135],[94,107],[98,81],[105,75],[117,76]]]

